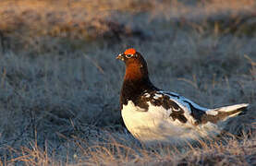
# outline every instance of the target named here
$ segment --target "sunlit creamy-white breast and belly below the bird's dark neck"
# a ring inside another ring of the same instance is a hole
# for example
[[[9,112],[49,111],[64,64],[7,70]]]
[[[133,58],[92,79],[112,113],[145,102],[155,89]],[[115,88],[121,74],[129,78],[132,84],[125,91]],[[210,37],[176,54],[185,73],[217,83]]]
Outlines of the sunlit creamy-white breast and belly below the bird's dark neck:
[[[190,126],[173,120],[161,106],[153,106],[150,102],[145,112],[132,101],[123,105],[122,117],[128,131],[145,143],[178,142],[191,136]]]

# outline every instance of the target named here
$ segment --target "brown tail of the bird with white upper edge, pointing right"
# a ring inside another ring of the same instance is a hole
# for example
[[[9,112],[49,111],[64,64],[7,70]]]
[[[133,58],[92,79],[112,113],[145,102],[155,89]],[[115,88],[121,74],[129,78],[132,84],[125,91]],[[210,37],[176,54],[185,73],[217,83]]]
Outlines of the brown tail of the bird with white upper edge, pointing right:
[[[216,124],[219,122],[224,122],[228,118],[237,116],[238,114],[244,114],[247,111],[248,105],[248,103],[230,105],[216,109],[210,109],[206,111],[206,113],[213,117],[212,120]]]

